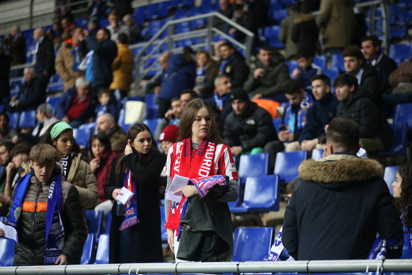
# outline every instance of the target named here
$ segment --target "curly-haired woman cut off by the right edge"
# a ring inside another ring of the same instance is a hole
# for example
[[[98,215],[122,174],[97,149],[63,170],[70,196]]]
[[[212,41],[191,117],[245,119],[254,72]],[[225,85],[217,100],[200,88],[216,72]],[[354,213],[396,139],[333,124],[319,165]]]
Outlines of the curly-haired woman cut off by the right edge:
[[[412,259],[412,162],[401,165],[392,183],[395,207],[402,220],[405,242],[403,243],[403,259]]]

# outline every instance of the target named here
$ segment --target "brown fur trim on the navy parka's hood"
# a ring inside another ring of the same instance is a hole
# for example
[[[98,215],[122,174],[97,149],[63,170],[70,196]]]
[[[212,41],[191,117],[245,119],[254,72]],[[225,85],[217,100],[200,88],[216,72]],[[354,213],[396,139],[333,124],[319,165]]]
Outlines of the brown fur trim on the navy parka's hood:
[[[384,169],[379,162],[361,158],[326,162],[304,160],[300,164],[298,172],[299,177],[304,181],[324,183],[364,181],[384,175]]]

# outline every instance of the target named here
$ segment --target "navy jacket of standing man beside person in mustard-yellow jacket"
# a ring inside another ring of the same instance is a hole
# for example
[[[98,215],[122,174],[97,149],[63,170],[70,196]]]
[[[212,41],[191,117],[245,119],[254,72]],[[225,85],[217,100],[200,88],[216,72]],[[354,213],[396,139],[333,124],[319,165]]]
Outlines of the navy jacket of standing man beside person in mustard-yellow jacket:
[[[95,37],[87,37],[87,46],[94,50],[93,77],[94,87],[108,89],[113,81],[112,63],[117,56],[116,43],[110,39],[97,42]]]

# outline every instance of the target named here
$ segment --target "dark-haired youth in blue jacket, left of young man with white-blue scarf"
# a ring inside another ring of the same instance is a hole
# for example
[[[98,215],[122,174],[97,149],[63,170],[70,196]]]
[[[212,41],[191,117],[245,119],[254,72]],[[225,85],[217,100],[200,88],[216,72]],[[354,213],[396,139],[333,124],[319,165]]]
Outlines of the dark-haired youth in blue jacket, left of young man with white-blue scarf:
[[[321,75],[323,73],[322,68],[312,63],[312,55],[305,49],[297,52],[295,56],[299,67],[293,70],[292,77],[299,80],[305,89],[312,89],[310,79],[314,75]]]

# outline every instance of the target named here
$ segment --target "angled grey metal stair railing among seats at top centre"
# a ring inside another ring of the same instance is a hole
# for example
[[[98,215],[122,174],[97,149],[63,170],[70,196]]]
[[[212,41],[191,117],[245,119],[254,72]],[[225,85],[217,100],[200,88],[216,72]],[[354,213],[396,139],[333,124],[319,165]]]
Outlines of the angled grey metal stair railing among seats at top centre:
[[[202,29],[195,30],[195,31],[188,31],[184,33],[177,33],[177,34],[174,33],[177,24],[182,24],[185,22],[190,22],[190,21],[199,20],[199,19],[208,19],[206,28],[202,28]],[[224,21],[229,26],[232,26],[236,28],[238,31],[241,31],[242,33],[244,33],[246,35],[245,43],[244,44],[240,43],[239,41],[233,39],[231,36],[227,35],[226,33],[216,28],[215,27],[216,20]],[[167,32],[167,34],[166,36],[162,38],[162,35],[164,32]],[[147,76],[147,73],[149,73],[150,71],[153,71],[153,69],[159,63],[159,60],[156,59],[156,61],[154,61],[146,69],[141,69],[141,68],[144,68],[144,65],[147,60],[152,59],[152,58],[157,58],[160,56],[159,54],[155,54],[155,52],[157,52],[157,50],[160,49],[162,45],[167,43],[167,51],[170,54],[177,54],[183,51],[183,47],[176,47],[176,48],[173,47],[174,42],[186,40],[186,39],[192,39],[192,38],[199,38],[199,43],[190,45],[190,47],[192,47],[192,49],[194,50],[207,47],[207,51],[212,56],[213,55],[213,34],[214,33],[221,35],[223,38],[225,38],[229,42],[232,42],[235,46],[239,47],[240,49],[243,49],[246,55],[246,63],[250,64],[250,53],[252,49],[254,34],[248,29],[244,28],[243,26],[240,26],[236,22],[232,21],[231,19],[228,19],[226,16],[223,16],[222,14],[218,12],[210,12],[207,14],[201,14],[201,15],[196,15],[196,16],[190,16],[187,18],[171,20],[171,21],[168,21],[165,25],[163,25],[162,28],[160,28],[160,30],[157,31],[157,33],[152,38],[150,38],[149,41],[147,41],[147,43],[143,44],[142,49],[135,57],[135,62],[136,62],[135,91],[136,93],[141,94],[141,91],[139,91],[140,81],[142,81]],[[207,39],[207,42],[206,42],[206,39]],[[155,45],[155,47],[148,54],[145,54],[146,50],[152,45]],[[136,45],[132,45],[130,48],[136,49],[139,47],[140,45],[136,44]],[[160,73],[161,71],[158,71],[152,78],[150,78],[149,82],[152,82],[153,80],[155,80],[155,78]]]

